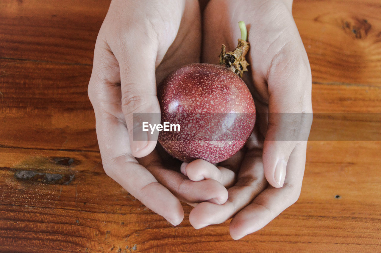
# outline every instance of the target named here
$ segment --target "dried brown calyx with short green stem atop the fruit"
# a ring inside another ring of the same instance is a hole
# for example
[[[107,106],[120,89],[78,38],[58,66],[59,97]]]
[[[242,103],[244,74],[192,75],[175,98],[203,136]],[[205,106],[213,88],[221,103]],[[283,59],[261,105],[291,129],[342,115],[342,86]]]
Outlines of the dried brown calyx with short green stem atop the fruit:
[[[239,22],[239,27],[241,29],[241,38],[238,39],[238,45],[234,51],[226,53],[226,46],[223,44],[221,48],[221,54],[219,55],[219,64],[225,64],[232,72],[236,73],[242,77],[243,72],[247,71],[247,66],[249,65],[245,59],[247,52],[250,49],[250,44],[247,40],[247,30],[246,25],[243,21]]]

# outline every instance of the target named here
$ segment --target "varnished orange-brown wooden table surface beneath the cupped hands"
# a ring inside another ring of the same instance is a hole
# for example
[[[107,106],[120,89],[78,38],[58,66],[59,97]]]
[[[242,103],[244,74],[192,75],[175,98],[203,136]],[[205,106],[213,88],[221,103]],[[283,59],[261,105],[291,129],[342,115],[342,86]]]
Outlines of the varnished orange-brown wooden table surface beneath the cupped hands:
[[[229,221],[193,229],[185,204],[173,227],[107,177],[87,84],[108,6],[0,2],[0,251],[381,252],[378,119],[355,120],[374,139],[346,141],[319,138],[332,118],[315,119],[298,202],[237,241]],[[294,1],[315,112],[381,112],[380,13],[380,0]]]

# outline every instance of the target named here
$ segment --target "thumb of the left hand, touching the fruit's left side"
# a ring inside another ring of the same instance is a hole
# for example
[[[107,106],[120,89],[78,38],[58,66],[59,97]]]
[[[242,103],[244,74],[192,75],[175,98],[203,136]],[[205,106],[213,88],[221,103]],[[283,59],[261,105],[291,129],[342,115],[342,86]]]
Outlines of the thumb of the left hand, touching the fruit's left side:
[[[152,43],[153,45],[147,45]],[[134,43],[135,44],[135,43]],[[153,42],[138,41],[123,45],[115,53],[120,67],[122,111],[130,137],[131,152],[143,157],[154,150],[158,132],[142,131],[142,122],[160,123],[160,105],[156,96],[155,61],[157,46]],[[128,143],[126,143],[128,145]]]

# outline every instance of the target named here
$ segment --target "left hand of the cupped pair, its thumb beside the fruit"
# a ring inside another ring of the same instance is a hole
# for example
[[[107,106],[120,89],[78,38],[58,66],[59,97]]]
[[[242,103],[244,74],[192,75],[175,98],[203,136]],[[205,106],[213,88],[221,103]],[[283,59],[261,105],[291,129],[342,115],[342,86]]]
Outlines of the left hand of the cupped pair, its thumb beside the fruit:
[[[139,127],[134,113],[159,113],[156,83],[181,65],[199,62],[200,21],[197,1],[112,1],[88,86],[105,172],[173,225],[184,217],[179,200],[223,203],[226,188],[215,180],[193,182],[165,168],[157,151],[151,153],[157,136],[133,140],[133,129]]]

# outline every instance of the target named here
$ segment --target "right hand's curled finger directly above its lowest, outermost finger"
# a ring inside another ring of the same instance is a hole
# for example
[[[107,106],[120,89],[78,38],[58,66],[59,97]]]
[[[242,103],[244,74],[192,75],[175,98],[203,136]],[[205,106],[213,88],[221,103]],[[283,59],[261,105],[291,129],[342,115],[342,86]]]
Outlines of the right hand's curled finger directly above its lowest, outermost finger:
[[[189,214],[189,221],[196,229],[210,224],[223,223],[249,204],[267,186],[264,178],[261,152],[250,151],[242,163],[237,183],[228,189],[225,204],[202,202]]]

